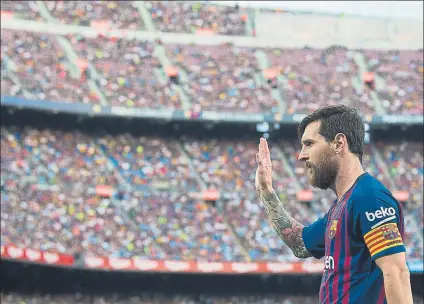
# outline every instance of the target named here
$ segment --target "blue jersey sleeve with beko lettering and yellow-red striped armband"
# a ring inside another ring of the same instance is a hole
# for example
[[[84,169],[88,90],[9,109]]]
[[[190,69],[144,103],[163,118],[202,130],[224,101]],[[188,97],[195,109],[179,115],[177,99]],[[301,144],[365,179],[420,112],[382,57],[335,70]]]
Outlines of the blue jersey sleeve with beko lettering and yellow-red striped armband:
[[[390,193],[379,191],[354,204],[355,230],[363,237],[371,259],[405,252],[401,207]]]

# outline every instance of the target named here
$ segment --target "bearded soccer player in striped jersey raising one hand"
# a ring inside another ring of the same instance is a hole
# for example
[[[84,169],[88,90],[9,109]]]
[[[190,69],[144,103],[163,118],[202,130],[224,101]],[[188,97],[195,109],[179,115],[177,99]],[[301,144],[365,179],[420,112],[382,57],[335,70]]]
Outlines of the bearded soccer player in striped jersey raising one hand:
[[[303,226],[284,209],[272,186],[266,139],[256,154],[256,190],[272,227],[298,258],[324,257],[320,304],[410,304],[402,207],[361,165],[364,123],[349,106],[330,106],[298,126],[299,160],[309,182],[337,195],[328,212]]]

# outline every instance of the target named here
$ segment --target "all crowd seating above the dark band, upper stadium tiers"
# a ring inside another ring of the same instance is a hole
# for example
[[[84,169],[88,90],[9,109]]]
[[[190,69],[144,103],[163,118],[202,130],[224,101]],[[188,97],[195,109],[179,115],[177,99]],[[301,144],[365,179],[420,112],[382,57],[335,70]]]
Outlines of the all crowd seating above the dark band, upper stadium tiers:
[[[19,22],[13,29],[2,27],[2,95],[282,114],[347,102],[364,115],[423,114],[422,50],[205,45],[81,30],[107,20],[118,30],[149,31],[152,23],[156,31],[175,35],[205,28],[228,37],[251,35],[246,30],[253,18],[249,9],[213,4],[3,1],[3,11],[11,12],[14,21],[81,27],[66,34],[28,31]],[[363,83],[369,72],[375,75],[374,88]]]

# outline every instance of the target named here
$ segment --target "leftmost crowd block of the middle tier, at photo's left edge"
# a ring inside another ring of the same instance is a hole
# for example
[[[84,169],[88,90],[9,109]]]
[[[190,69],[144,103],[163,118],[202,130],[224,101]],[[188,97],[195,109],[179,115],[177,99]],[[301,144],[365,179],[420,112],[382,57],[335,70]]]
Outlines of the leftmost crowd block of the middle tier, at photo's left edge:
[[[72,75],[72,63],[65,56],[55,36],[2,29],[1,55],[2,94],[16,92],[22,96],[27,92],[36,100],[91,104],[99,102],[99,97],[90,90],[86,79]],[[11,84],[3,80],[9,67],[20,84],[14,83],[14,90],[5,91],[11,88]]]

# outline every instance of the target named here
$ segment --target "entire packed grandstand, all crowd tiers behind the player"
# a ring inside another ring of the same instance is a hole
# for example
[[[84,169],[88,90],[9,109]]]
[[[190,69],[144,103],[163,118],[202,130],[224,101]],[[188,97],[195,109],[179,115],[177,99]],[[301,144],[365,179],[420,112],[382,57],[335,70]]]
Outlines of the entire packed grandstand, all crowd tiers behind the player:
[[[167,34],[213,32],[230,39],[255,36],[250,9],[204,3],[2,1],[1,12],[2,23],[9,24],[1,28],[2,106],[24,102],[37,108],[46,101],[56,111],[61,105],[88,105],[84,109],[94,112],[119,107],[181,111],[192,118],[202,112],[281,117],[348,101],[364,117],[423,114],[422,49],[168,43],[102,32],[154,28]],[[34,30],[27,21],[57,24],[64,31]],[[74,25],[81,27],[67,31]],[[364,83],[363,75],[373,75],[373,81]],[[253,272],[267,272],[261,267],[282,273],[316,271],[312,262],[302,264],[291,254],[258,203],[257,141],[138,136],[130,131],[100,135],[2,124],[2,258],[70,266],[80,262],[115,270],[218,267],[217,272],[237,272],[238,266],[239,272],[251,272],[249,267]],[[309,186],[296,161],[298,151],[294,138],[272,146],[275,187],[293,217],[308,224],[328,210],[333,194]],[[366,145],[363,165],[405,201],[408,261],[422,263],[422,140],[373,140]],[[219,208],[209,202],[219,199],[204,199],[205,193],[216,196],[217,189],[225,198]],[[314,300],[165,295],[119,300],[16,293],[1,297],[2,303]]]

